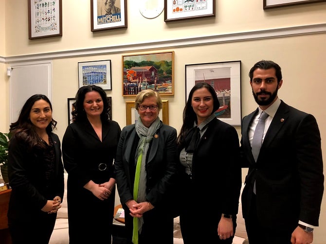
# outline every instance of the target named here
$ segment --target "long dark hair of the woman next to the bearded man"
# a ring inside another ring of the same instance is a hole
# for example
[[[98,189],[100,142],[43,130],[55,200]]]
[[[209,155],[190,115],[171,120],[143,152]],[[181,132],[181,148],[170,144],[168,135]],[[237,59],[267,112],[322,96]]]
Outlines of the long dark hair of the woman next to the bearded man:
[[[193,107],[191,106],[192,97],[194,95],[194,92],[200,88],[206,88],[213,97],[213,111],[214,113],[219,108],[219,102],[217,98],[216,91],[213,87],[211,87],[206,82],[199,82],[189,92],[188,101],[183,109],[183,123],[182,127],[178,136],[178,145],[181,146],[183,143],[183,140],[185,139],[185,136],[187,135],[187,132],[194,127],[194,122],[197,123],[197,115],[194,112]]]

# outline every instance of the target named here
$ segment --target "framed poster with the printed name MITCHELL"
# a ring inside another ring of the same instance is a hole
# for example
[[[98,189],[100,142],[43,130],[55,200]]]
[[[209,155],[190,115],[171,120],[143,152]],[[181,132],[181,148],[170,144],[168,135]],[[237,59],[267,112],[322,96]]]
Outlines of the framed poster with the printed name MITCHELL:
[[[91,31],[127,28],[127,0],[91,0]]]

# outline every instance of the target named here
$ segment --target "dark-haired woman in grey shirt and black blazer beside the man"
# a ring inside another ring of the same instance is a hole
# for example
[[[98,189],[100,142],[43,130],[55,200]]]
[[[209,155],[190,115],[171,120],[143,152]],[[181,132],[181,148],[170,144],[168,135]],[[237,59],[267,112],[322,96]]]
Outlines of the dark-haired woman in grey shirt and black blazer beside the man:
[[[239,139],[233,126],[216,118],[218,108],[214,88],[201,82],[191,89],[183,110],[178,147],[184,244],[231,244],[235,234],[241,188]]]

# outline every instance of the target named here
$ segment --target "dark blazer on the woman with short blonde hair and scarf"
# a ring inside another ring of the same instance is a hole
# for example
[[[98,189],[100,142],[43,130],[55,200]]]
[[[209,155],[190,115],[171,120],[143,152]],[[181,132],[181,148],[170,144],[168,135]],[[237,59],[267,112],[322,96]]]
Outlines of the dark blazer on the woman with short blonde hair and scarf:
[[[115,160],[117,189],[122,204],[133,199],[138,141],[135,124],[123,128]],[[161,122],[161,127],[150,143],[146,159],[146,200],[155,209],[160,209],[160,205],[164,207],[163,203],[171,200],[167,199],[167,192],[171,190],[177,172],[177,159],[177,131]]]

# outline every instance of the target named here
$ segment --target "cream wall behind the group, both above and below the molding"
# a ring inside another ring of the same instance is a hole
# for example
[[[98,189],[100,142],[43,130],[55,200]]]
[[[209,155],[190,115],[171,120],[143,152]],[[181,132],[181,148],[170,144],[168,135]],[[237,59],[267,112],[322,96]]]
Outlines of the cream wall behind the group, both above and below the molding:
[[[1,2],[1,0],[0,0]],[[326,23],[326,3],[307,4],[263,11],[263,0],[217,1],[215,18],[165,23],[163,13],[154,19],[142,17],[137,1],[127,1],[128,28],[91,33],[90,1],[63,1],[63,36],[28,40],[27,1],[5,0],[5,57],[34,53],[84,50],[132,43],[146,43],[156,40],[187,38],[191,36],[221,35],[255,30],[303,26]],[[1,2],[2,3],[2,2]],[[0,3],[0,7],[1,7]],[[20,6],[17,8],[17,6]],[[1,8],[0,8],[1,9]],[[1,10],[0,10],[1,13]],[[1,16],[1,15],[0,15]],[[26,19],[17,24],[19,19]],[[0,17],[0,26],[2,24]],[[0,27],[1,28],[1,27]],[[256,108],[249,85],[248,72],[261,59],[279,63],[283,70],[283,86],[279,97],[289,105],[313,114],[320,126],[322,150],[326,155],[326,117],[324,91],[326,90],[326,33],[290,36],[282,38],[218,43],[203,46],[162,48],[148,52],[175,52],[175,95],[164,96],[169,101],[169,124],[178,131],[181,128],[182,110],[185,104],[184,65],[195,63],[241,60],[241,102],[242,117]],[[1,42],[0,42],[1,45]],[[144,47],[146,45],[144,44]],[[85,55],[53,59],[53,108],[54,119],[58,121],[57,134],[62,139],[67,126],[67,98],[74,97],[78,89],[78,62],[110,59],[112,64],[113,120],[121,127],[126,125],[126,101],[133,98],[122,96],[122,55],[144,52],[117,52],[100,55]],[[0,56],[4,55],[1,53]],[[60,55],[60,54],[59,54]],[[33,55],[31,55],[33,58]],[[0,130],[8,127],[9,85],[5,65],[0,63],[0,109],[6,111],[0,119]],[[6,90],[3,91],[3,88]],[[3,99],[5,97],[5,99]],[[1,100],[2,99],[2,100]],[[4,101],[4,102],[3,102]],[[1,103],[3,102],[4,105]],[[5,122],[3,122],[5,120]],[[5,124],[5,126],[3,125]],[[3,127],[4,126],[4,127]],[[240,127],[235,126],[240,136]],[[246,170],[243,171],[245,174]],[[324,174],[326,171],[324,170]],[[320,227],[314,232],[314,244],[325,244],[326,200],[322,203]]]

